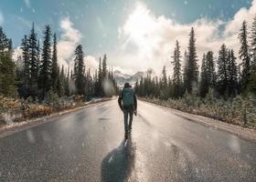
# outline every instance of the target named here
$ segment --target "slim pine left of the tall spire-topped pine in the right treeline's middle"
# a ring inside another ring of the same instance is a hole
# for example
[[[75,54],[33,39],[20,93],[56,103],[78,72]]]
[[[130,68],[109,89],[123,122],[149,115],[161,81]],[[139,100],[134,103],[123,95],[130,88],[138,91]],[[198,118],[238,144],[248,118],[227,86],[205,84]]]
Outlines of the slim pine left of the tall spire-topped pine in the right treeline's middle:
[[[173,84],[174,84],[174,96],[177,98],[181,96],[181,85],[182,85],[182,78],[181,78],[181,56],[180,56],[180,46],[178,41],[176,41],[176,47],[173,56],[174,65],[174,74],[173,74]],[[171,82],[169,82],[171,83]]]

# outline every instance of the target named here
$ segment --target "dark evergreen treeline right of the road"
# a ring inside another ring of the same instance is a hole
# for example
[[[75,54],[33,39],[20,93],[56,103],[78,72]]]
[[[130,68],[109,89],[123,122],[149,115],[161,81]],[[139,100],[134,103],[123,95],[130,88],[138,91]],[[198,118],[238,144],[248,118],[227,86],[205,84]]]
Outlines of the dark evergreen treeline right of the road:
[[[217,59],[212,51],[203,55],[201,70],[197,64],[197,48],[195,32],[192,27],[189,44],[183,60],[180,45],[176,41],[171,64],[173,76],[167,76],[165,66],[162,76],[152,76],[149,72],[135,84],[138,96],[158,97],[161,99],[181,98],[185,94],[204,98],[208,93],[225,100],[237,95],[249,96],[256,94],[256,16],[248,31],[244,21],[238,35],[240,41],[238,64],[232,49],[225,44],[220,46]],[[184,61],[184,66],[181,62]]]

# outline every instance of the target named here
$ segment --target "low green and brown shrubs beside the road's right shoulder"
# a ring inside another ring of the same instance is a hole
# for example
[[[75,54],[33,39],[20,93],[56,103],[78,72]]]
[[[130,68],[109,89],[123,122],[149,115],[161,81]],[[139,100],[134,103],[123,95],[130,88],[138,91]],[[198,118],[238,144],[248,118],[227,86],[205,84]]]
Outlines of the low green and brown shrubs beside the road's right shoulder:
[[[162,106],[169,106],[188,113],[208,116],[234,125],[256,128],[255,97],[243,98],[236,96],[228,101],[216,99],[212,93],[205,98],[186,93],[179,99],[162,100],[146,98],[149,102]]]

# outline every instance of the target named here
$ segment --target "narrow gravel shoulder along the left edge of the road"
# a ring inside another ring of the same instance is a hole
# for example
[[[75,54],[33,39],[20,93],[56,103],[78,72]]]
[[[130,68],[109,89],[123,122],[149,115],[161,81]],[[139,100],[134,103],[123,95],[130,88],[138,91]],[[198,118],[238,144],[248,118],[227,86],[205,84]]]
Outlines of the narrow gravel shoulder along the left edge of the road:
[[[11,136],[13,134],[15,134],[16,132],[20,132],[23,130],[26,130],[30,127],[35,127],[35,126],[40,126],[49,122],[53,122],[55,118],[58,118],[59,116],[64,116],[64,115],[68,115],[72,112],[76,112],[76,111],[80,111],[81,109],[87,108],[87,107],[91,107],[91,106],[95,106],[95,105],[99,105],[105,102],[110,102],[112,100],[114,100],[115,98],[110,98],[110,99],[106,99],[106,100],[101,100],[101,101],[97,101],[97,102],[91,102],[86,106],[79,106],[70,110],[64,110],[62,112],[58,112],[58,113],[53,113],[49,116],[42,116],[42,117],[38,117],[38,118],[33,118],[33,119],[28,119],[26,121],[23,122],[19,122],[19,123],[15,123],[14,125],[8,125],[5,127],[1,127],[0,128],[0,139],[5,137],[5,136]]]

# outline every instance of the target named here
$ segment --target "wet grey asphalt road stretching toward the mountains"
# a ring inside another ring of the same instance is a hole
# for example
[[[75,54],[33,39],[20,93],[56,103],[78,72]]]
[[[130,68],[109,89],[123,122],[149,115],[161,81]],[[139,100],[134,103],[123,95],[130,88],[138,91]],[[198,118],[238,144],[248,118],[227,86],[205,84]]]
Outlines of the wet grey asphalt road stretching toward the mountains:
[[[256,181],[256,142],[138,102],[123,139],[117,100],[0,139],[0,181]]]

